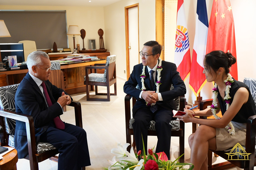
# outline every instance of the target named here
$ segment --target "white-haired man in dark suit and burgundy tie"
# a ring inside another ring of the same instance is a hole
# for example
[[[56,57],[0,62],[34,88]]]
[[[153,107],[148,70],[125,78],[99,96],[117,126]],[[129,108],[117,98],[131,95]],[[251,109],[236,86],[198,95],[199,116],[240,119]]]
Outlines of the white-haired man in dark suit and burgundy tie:
[[[62,107],[72,98],[49,82],[51,61],[43,51],[34,51],[27,58],[28,73],[20,82],[16,95],[16,112],[30,115],[34,120],[37,143],[51,143],[59,150],[58,169],[77,170],[89,166],[90,157],[84,129],[62,122]],[[14,136],[18,158],[28,155],[25,122],[16,121]]]

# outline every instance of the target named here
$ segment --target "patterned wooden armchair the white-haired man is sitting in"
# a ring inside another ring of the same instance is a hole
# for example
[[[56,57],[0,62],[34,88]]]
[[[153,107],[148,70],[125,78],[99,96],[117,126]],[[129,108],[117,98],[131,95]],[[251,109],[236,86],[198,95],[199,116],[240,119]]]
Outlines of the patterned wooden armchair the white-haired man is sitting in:
[[[16,120],[26,122],[27,139],[29,149],[30,169],[38,170],[38,163],[45,159],[55,157],[58,150],[50,143],[35,141],[34,122],[32,116],[16,113],[15,94],[19,84],[0,87],[0,125],[3,132],[0,133],[1,146],[14,147],[14,135]],[[72,101],[70,106],[75,109],[75,122],[82,128],[82,111],[80,102]]]

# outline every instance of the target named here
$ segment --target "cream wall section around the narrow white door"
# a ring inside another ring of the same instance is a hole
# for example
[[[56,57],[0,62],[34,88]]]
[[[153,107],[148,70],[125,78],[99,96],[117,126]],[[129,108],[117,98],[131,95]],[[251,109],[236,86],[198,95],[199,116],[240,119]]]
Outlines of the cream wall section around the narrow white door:
[[[155,0],[122,0],[104,7],[105,48],[115,54],[116,74],[126,80],[125,7],[139,3],[139,47],[156,39]]]

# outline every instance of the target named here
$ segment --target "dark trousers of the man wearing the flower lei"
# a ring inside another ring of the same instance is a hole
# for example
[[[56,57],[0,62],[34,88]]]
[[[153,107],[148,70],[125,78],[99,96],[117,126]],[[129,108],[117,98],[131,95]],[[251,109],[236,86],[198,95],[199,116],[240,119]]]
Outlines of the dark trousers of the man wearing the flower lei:
[[[156,153],[165,152],[170,160],[170,146],[171,146],[171,129],[170,121],[172,119],[172,111],[158,106],[155,113],[150,111],[149,107],[143,107],[137,110],[134,115],[134,123],[132,124],[133,133],[135,137],[137,151],[143,151],[142,136],[147,153],[147,130],[150,128],[150,121],[156,122],[155,128],[157,133]],[[142,134],[142,136],[141,136]],[[143,152],[142,152],[143,153]]]

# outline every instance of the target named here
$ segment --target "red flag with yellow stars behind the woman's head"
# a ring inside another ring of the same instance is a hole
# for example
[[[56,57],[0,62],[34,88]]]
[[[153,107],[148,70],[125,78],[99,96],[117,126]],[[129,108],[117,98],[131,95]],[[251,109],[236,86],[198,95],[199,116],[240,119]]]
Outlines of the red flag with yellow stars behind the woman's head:
[[[229,0],[213,0],[206,54],[214,50],[225,53],[229,50],[237,58],[234,20]],[[230,74],[238,80],[237,63],[232,65]]]

